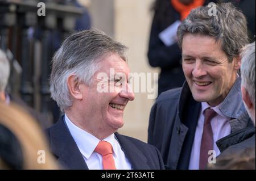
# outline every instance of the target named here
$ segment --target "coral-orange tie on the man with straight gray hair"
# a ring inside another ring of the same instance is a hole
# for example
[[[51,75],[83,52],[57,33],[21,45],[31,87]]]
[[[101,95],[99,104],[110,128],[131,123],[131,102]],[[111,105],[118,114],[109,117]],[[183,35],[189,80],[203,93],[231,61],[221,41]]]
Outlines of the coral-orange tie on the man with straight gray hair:
[[[104,170],[116,170],[112,145],[109,142],[100,141],[94,151],[102,155],[102,165]]]

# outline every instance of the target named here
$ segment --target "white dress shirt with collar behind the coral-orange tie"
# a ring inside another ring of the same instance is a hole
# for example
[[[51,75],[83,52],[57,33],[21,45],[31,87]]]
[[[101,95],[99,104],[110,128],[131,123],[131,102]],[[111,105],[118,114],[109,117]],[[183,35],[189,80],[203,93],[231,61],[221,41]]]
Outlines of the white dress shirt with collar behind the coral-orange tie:
[[[86,162],[89,170],[103,170],[102,166],[102,156],[96,152],[94,149],[101,141],[98,138],[94,137],[92,134],[84,131],[83,129],[77,127],[72,121],[65,115],[65,123],[73,139],[78,146],[82,157]],[[113,157],[115,161],[115,167],[118,170],[131,170],[131,164],[129,160],[126,158],[125,153],[121,149],[118,141],[115,139],[114,134],[110,135],[109,137],[105,138],[104,141],[109,142],[113,147]]]

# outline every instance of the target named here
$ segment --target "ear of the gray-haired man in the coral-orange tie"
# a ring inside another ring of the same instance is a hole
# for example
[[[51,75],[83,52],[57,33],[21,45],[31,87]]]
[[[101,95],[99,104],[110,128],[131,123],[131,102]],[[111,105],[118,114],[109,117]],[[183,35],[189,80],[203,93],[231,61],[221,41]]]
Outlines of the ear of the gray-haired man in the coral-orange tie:
[[[82,100],[82,90],[80,86],[81,83],[77,79],[76,74],[69,75],[67,79],[67,83],[68,83],[68,89],[71,96],[74,99]]]

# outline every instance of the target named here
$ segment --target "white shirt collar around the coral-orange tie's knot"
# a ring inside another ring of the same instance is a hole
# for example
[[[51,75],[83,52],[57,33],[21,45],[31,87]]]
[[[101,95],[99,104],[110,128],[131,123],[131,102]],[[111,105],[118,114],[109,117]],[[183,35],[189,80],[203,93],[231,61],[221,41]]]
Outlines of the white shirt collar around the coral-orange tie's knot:
[[[93,154],[96,146],[101,141],[92,134],[84,131],[83,129],[77,127],[65,114],[65,123],[69,131],[71,132],[72,137],[74,138],[81,154],[84,155],[86,159],[89,159]],[[113,152],[117,153],[117,145],[115,144],[115,136],[111,134],[109,137],[106,137],[104,141],[109,142],[113,147]]]

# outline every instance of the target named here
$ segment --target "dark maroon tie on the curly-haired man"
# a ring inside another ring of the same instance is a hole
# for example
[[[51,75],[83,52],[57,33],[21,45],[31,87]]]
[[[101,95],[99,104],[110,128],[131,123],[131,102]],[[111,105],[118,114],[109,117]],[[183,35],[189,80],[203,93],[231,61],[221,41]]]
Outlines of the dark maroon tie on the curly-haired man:
[[[204,170],[208,163],[208,151],[213,150],[213,132],[210,121],[216,115],[216,112],[210,108],[205,110],[204,116],[204,130],[200,148],[200,162],[199,169]]]

